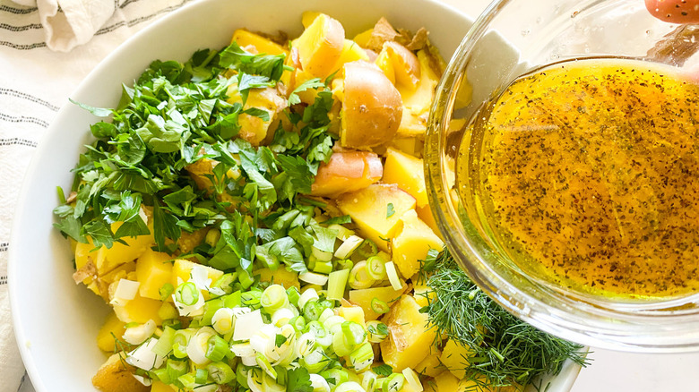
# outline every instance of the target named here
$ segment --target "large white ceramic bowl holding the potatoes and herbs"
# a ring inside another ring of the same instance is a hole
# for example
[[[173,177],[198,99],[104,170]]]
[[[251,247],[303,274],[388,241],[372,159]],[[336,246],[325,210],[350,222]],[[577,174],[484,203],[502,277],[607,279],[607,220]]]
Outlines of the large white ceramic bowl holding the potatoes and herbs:
[[[290,36],[300,34],[301,13],[328,13],[344,25],[347,36],[370,28],[385,16],[395,26],[426,27],[449,58],[472,21],[444,4],[429,0],[200,0],[154,22],[108,56],[72,98],[94,107],[116,107],[122,82],[130,84],[154,59],[186,60],[204,47],[220,48],[233,31],[246,27]],[[52,227],[56,185],[68,189],[89,125],[97,119],[66,105],[36,151],[20,196],[10,249],[10,295],[15,334],[22,359],[38,392],[93,392],[91,377],[105,360],[95,337],[108,306],[84,286],[73,283],[73,255]],[[579,367],[568,365],[550,392],[569,390]]]

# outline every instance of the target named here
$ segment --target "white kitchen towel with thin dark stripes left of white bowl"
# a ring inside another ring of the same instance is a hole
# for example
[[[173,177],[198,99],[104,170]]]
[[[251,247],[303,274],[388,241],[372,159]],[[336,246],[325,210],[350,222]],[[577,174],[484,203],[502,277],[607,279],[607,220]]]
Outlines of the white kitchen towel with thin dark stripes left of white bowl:
[[[100,60],[189,1],[0,0],[0,392],[16,392],[24,375],[13,337],[7,253],[31,155],[58,109]]]

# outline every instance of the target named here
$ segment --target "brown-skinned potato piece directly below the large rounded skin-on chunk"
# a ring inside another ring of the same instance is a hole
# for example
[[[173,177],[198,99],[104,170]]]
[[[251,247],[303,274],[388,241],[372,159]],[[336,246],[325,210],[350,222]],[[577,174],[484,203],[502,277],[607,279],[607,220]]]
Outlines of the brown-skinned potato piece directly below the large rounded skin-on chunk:
[[[314,196],[335,197],[364,189],[384,175],[381,159],[373,152],[339,151],[322,163],[311,186]]]

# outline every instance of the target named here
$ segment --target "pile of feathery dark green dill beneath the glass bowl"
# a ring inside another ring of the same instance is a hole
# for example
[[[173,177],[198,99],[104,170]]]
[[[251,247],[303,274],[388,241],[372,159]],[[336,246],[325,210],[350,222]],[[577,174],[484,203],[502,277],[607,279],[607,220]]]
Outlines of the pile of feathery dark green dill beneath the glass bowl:
[[[469,347],[466,379],[490,386],[527,385],[557,374],[571,360],[586,365],[582,345],[554,337],[505,311],[458,267],[449,251],[432,252],[423,264],[429,322],[437,336]]]

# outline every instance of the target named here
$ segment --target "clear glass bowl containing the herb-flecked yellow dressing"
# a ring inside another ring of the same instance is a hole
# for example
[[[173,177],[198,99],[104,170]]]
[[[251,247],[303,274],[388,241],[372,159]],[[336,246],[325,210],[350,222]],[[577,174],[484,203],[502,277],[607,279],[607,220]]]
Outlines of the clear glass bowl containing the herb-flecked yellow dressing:
[[[505,226],[493,223],[494,219],[506,222],[502,220],[504,210],[488,212],[488,206],[496,206],[488,195],[496,193],[481,192],[481,180],[494,177],[483,174],[486,164],[479,154],[484,153],[484,137],[471,126],[481,118],[485,120],[479,110],[494,102],[513,81],[549,64],[615,57],[645,62],[634,64],[649,69],[662,64],[669,72],[697,75],[696,35],[699,27],[655,19],[639,0],[498,0],[488,6],[462,40],[437,89],[428,124],[425,169],[430,204],[455,260],[514,315],[558,337],[593,347],[646,353],[699,349],[699,295],[695,292],[595,291],[591,282],[571,284],[547,275],[546,268],[531,267],[536,263],[525,259],[537,258],[531,256],[533,248],[526,248],[529,245],[517,244],[520,251],[513,251],[496,229]],[[541,84],[532,86],[544,89]],[[574,121],[579,118],[578,112],[569,115]],[[536,159],[537,155],[531,157]],[[696,159],[696,152],[688,157]],[[536,202],[542,214],[549,214],[547,205]],[[539,224],[538,218],[531,217],[532,227]],[[622,223],[618,223],[619,233]],[[546,235],[546,231],[539,231],[535,236],[548,244]],[[601,243],[608,241],[609,237],[602,237]],[[579,241],[571,237],[558,246],[575,249]],[[696,254],[697,244],[689,246]],[[699,259],[689,262],[699,267]]]

